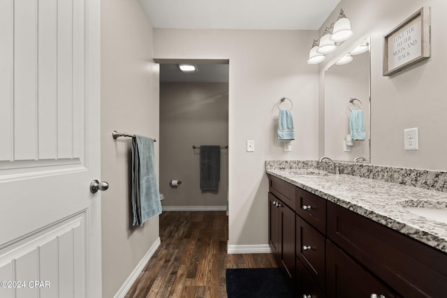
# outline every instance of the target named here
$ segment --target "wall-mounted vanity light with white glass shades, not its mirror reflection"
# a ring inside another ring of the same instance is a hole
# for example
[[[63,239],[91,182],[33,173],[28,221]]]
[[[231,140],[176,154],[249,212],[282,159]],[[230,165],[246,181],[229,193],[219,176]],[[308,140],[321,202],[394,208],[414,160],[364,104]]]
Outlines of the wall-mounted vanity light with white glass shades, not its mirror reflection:
[[[323,36],[314,40],[314,45],[309,52],[307,64],[319,64],[323,62],[325,58],[318,57],[318,59],[316,59],[314,57],[316,57],[317,54],[321,56],[335,52],[339,45],[352,36],[353,31],[351,31],[351,21],[344,15],[344,11],[341,9],[337,21],[326,27]],[[318,47],[315,45],[318,45]]]

